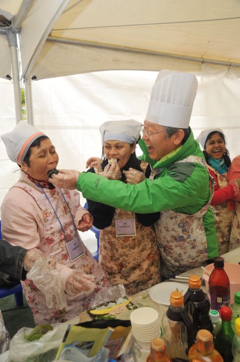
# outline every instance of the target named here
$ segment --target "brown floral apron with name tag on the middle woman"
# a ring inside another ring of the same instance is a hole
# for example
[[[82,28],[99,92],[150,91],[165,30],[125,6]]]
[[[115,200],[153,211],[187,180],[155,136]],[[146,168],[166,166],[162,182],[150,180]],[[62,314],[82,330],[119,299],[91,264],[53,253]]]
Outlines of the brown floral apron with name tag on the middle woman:
[[[146,162],[141,162],[145,171]],[[136,236],[116,236],[116,219],[135,219]],[[112,224],[100,232],[99,262],[112,285],[124,284],[129,295],[160,283],[160,256],[154,227],[135,213],[116,208]]]

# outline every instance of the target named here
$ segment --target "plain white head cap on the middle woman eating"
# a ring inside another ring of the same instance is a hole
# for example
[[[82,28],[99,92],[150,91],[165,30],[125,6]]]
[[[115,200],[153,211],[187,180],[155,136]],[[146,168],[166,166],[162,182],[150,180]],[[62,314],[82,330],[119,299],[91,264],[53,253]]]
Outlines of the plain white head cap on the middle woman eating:
[[[104,144],[104,141],[110,139],[134,143],[139,139],[141,123],[134,119],[107,121],[99,127],[99,130],[102,136],[102,145]]]

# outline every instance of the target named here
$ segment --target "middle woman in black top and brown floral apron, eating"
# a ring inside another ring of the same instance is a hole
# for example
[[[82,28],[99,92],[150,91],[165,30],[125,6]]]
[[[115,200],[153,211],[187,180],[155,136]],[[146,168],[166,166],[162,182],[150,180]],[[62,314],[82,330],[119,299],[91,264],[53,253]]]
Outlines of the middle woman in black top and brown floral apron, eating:
[[[150,174],[148,164],[138,160],[135,153],[140,127],[134,120],[103,123],[100,132],[104,160],[88,171],[111,179],[107,171],[110,164],[116,162],[117,179],[122,182],[126,183],[124,171],[129,168]],[[159,283],[160,256],[153,227],[159,213],[137,214],[91,200],[87,202],[94,226],[101,229],[99,262],[111,284],[124,284],[131,295]]]

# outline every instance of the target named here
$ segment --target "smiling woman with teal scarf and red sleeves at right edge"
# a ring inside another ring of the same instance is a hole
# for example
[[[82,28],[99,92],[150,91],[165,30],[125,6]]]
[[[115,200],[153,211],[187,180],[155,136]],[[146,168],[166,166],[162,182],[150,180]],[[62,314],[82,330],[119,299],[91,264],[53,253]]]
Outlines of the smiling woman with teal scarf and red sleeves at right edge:
[[[219,255],[222,255],[229,251],[230,233],[236,215],[233,199],[239,192],[239,185],[236,180],[228,181],[228,168],[231,160],[222,130],[205,130],[197,140],[204,148],[208,171],[215,181],[211,207],[215,215],[218,252]]]

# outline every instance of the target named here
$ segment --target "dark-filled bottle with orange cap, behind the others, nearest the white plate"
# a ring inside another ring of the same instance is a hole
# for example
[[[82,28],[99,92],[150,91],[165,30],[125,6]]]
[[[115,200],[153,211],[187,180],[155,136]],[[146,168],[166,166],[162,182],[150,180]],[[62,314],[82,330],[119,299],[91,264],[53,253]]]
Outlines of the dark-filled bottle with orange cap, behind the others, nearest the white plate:
[[[184,295],[184,306],[193,318],[195,333],[200,329],[207,329],[213,333],[213,325],[209,317],[210,302],[201,288],[200,277],[198,275],[191,275],[188,285],[189,288]]]

